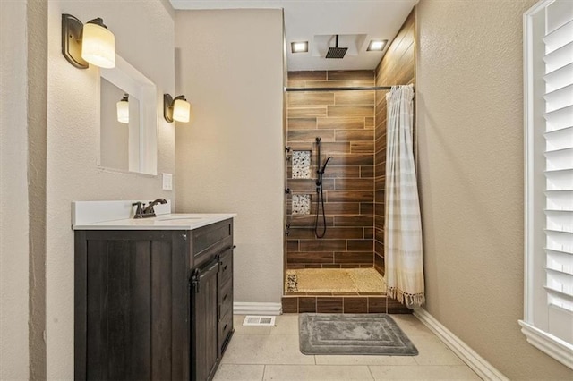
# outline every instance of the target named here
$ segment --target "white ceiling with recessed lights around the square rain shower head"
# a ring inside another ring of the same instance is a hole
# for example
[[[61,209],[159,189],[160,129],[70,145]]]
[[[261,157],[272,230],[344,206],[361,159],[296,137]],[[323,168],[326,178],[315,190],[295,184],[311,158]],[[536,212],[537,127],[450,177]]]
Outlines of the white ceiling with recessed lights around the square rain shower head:
[[[381,52],[367,52],[371,39],[396,36],[418,0],[170,0],[177,10],[284,9],[289,71],[371,70]],[[348,47],[342,59],[326,59],[329,47]],[[290,43],[308,41],[307,53],[291,53]]]

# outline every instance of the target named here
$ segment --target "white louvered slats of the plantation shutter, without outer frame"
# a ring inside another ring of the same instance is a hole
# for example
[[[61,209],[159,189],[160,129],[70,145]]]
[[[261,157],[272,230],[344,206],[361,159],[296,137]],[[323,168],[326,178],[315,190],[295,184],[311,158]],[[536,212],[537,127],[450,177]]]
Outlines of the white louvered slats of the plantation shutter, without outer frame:
[[[548,332],[573,343],[573,11],[545,14],[545,234]],[[569,324],[562,327],[564,324]]]

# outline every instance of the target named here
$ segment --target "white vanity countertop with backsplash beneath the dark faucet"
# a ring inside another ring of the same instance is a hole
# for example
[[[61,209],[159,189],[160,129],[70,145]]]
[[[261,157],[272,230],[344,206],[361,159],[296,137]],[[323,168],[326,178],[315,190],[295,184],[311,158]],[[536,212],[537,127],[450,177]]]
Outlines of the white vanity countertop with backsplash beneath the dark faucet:
[[[73,201],[73,230],[193,230],[235,213],[170,213],[171,202],[155,207],[157,216],[133,218],[133,201]]]

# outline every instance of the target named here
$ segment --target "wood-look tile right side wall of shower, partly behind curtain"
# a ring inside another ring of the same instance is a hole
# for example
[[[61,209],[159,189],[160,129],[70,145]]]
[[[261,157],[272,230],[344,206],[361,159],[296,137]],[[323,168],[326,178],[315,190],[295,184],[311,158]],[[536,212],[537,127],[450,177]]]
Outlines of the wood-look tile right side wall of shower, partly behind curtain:
[[[415,84],[415,10],[376,69],[376,86]],[[376,92],[374,157],[374,267],[384,275],[384,188],[386,186],[386,91]]]

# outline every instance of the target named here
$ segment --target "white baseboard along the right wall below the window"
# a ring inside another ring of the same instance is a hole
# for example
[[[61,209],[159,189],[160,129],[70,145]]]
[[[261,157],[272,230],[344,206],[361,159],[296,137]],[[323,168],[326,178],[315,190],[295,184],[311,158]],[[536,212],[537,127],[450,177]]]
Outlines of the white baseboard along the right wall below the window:
[[[449,331],[449,329],[443,326],[436,318],[432,317],[428,311],[421,308],[415,309],[414,315],[416,318],[419,318],[425,326],[428,326],[469,368],[472,368],[477,376],[484,380],[509,380],[508,377],[503,376],[498,369],[494,368],[492,364],[483,359],[482,356],[477,354],[466,343],[462,342],[458,336]]]

